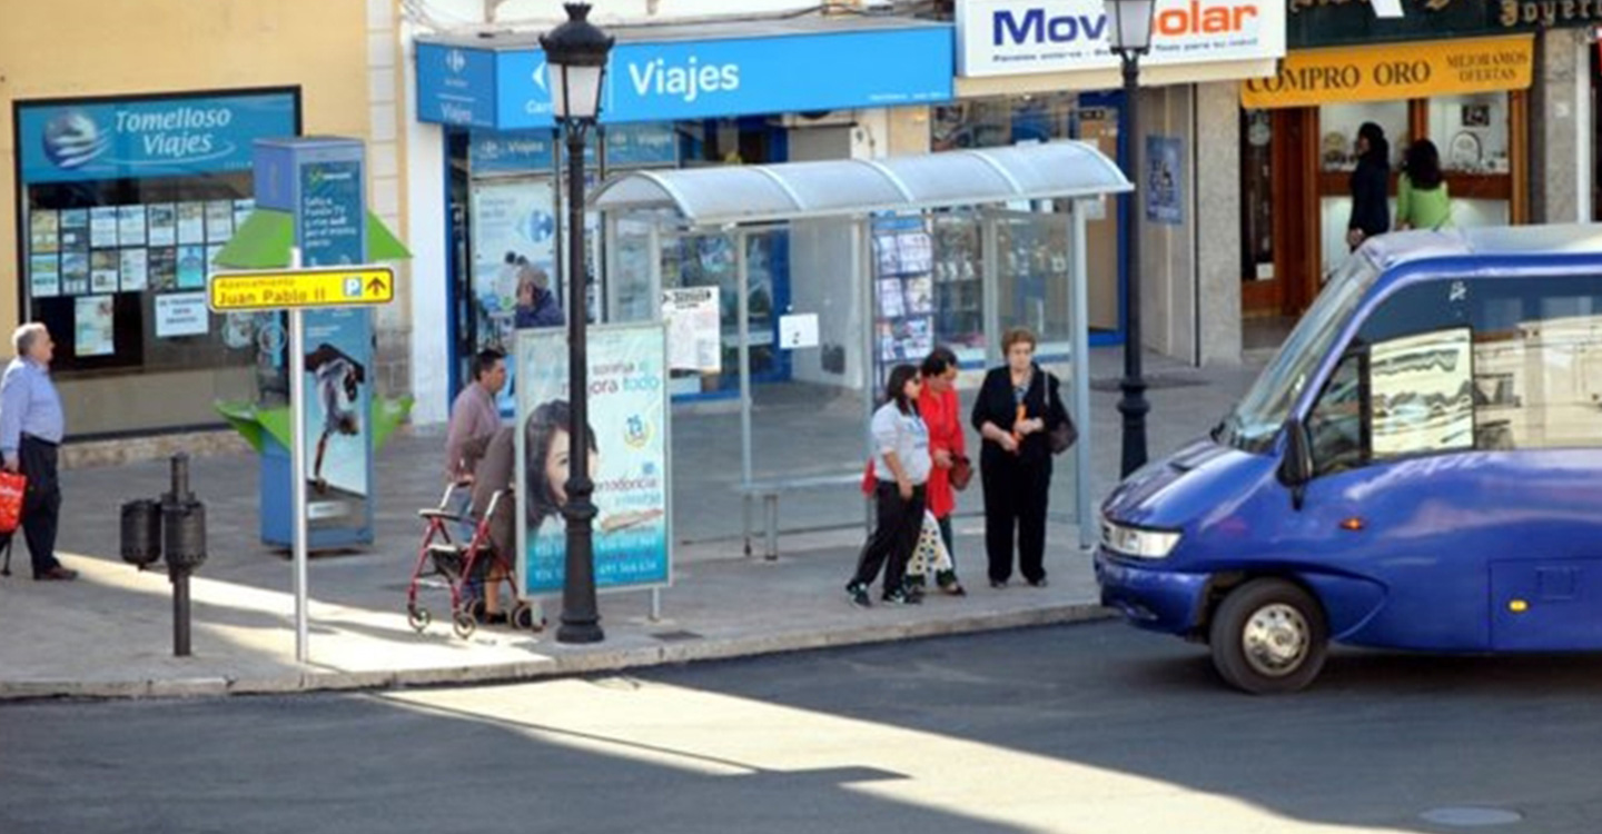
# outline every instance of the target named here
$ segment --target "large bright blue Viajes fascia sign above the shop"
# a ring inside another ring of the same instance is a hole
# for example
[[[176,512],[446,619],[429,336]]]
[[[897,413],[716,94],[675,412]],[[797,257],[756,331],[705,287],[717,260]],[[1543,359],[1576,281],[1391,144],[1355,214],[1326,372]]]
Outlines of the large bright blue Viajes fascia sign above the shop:
[[[545,53],[418,43],[418,117],[497,130],[548,128]],[[945,24],[698,42],[625,42],[607,66],[601,120],[670,122],[952,99]]]

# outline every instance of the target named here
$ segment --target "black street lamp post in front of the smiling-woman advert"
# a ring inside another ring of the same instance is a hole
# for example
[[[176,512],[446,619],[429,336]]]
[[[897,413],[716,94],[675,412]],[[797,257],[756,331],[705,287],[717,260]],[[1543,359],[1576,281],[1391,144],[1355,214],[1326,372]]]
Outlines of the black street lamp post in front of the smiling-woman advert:
[[[562,583],[562,624],[556,640],[594,644],[606,639],[596,605],[594,482],[590,480],[590,355],[585,336],[585,138],[601,114],[612,35],[586,18],[590,3],[567,3],[567,22],[540,35],[551,90],[551,110],[567,139],[567,576]]]

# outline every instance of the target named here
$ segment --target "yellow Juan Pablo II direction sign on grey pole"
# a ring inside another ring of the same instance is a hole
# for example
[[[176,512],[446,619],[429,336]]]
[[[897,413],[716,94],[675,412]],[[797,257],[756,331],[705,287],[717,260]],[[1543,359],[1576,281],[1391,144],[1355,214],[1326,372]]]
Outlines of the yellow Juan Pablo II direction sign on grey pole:
[[[388,266],[213,272],[208,303],[213,312],[287,311],[295,307],[364,307],[396,296]]]

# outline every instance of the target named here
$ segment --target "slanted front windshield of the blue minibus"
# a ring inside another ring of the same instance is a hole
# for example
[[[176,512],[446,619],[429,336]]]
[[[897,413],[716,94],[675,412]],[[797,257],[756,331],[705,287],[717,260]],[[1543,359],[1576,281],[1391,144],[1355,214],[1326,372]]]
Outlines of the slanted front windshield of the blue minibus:
[[[1347,258],[1291,330],[1274,362],[1262,368],[1240,403],[1213,429],[1213,439],[1243,451],[1267,451],[1296,397],[1312,381],[1376,277],[1379,269],[1363,253]]]

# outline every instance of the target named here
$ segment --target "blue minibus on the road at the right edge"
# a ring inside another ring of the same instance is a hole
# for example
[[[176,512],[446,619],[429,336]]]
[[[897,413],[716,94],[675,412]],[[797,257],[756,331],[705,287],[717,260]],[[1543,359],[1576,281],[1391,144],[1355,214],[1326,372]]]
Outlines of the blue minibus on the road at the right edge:
[[[1602,648],[1602,226],[1381,235],[1101,507],[1101,599],[1294,692],[1328,644]]]

